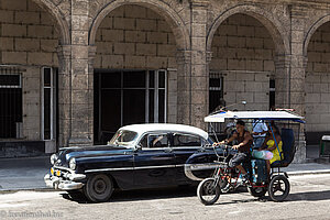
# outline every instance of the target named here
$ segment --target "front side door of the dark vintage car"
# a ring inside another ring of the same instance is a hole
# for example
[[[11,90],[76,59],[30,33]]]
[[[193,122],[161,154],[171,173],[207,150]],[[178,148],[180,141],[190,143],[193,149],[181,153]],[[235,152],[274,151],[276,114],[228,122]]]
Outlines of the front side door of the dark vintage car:
[[[141,188],[175,184],[175,157],[167,132],[145,134],[134,154],[134,185]]]

